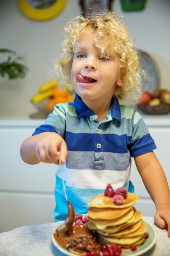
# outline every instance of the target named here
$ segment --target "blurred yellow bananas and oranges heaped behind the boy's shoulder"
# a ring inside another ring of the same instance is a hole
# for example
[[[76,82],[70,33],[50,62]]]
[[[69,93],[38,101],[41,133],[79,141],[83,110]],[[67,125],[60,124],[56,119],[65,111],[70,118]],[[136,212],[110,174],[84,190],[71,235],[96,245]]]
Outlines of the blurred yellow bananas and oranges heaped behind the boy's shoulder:
[[[50,113],[53,111],[55,104],[65,103],[74,100],[74,97],[72,97],[69,93],[71,86],[69,84],[65,85],[67,87],[67,90],[65,92],[62,92],[58,88],[57,80],[47,81],[44,84],[40,85],[38,93],[33,95],[30,100],[35,105],[44,100],[47,100],[46,110]]]

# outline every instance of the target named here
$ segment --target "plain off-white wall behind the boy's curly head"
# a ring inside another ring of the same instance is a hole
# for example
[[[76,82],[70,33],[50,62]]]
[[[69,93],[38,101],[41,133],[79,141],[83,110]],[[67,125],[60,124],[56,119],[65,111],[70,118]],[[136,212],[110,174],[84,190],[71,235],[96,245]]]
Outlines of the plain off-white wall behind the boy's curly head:
[[[60,15],[47,21],[25,17],[16,0],[0,1],[0,48],[25,54],[29,72],[25,79],[0,78],[0,119],[27,118],[36,109],[30,97],[49,78],[50,60],[59,58],[64,24],[81,12],[78,0],[67,0]],[[123,12],[119,0],[112,10],[124,16],[137,48],[148,51],[160,69],[160,86],[170,89],[170,1],[148,0],[145,10]],[[0,55],[0,60],[5,56]]]

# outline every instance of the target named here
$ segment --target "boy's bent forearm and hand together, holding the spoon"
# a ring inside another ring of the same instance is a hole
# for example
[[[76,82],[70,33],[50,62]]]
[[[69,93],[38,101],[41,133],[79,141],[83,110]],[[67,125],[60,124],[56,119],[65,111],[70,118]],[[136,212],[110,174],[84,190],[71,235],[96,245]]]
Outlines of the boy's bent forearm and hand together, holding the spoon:
[[[58,164],[60,151],[61,163],[67,158],[67,145],[64,139],[54,132],[44,132],[27,138],[20,147],[20,156],[27,164]]]

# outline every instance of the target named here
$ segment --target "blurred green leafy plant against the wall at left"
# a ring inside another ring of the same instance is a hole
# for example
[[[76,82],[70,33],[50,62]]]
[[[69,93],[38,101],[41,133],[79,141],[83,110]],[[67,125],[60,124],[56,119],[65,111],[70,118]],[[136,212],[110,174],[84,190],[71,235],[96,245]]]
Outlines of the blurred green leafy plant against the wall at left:
[[[16,52],[10,49],[0,49],[0,53],[9,54],[7,60],[0,63],[0,75],[7,75],[9,79],[24,78],[28,71],[24,57],[17,56]]]

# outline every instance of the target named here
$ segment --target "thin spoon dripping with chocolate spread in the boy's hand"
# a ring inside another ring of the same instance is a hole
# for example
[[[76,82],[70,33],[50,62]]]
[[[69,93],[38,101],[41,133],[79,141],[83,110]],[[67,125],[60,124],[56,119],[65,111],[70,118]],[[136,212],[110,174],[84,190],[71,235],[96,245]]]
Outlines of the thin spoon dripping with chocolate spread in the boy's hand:
[[[63,172],[62,172],[62,164],[61,164],[60,158],[59,158],[59,164],[60,164],[60,171],[61,171],[61,177],[62,177],[62,184],[63,184],[63,188],[64,188],[65,199],[67,200],[67,205],[68,205],[68,215],[65,218],[65,231],[66,231],[67,234],[70,234],[70,233],[72,233],[72,224],[74,222],[75,211],[74,211],[74,208],[73,208],[72,204],[67,199],[65,183],[64,183],[64,176],[63,176]]]

